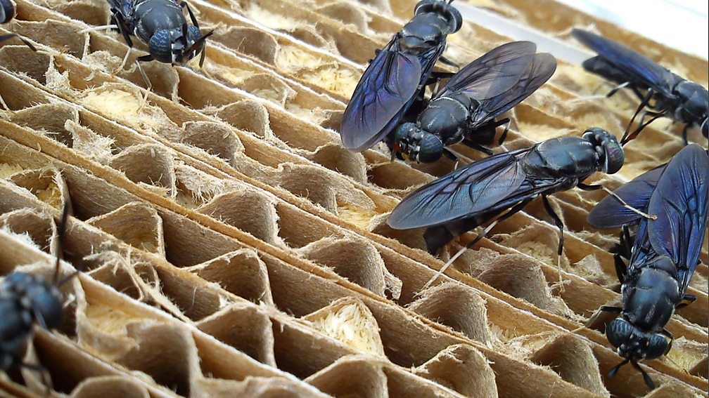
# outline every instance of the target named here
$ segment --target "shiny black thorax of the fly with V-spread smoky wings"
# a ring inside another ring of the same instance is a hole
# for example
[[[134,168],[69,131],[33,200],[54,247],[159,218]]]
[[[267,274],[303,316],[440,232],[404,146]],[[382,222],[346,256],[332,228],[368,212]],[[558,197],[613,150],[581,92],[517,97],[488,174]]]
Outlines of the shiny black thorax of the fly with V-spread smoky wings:
[[[421,129],[440,137],[446,145],[463,140],[465,126],[470,118],[468,109],[450,97],[436,98],[418,115],[416,124]]]

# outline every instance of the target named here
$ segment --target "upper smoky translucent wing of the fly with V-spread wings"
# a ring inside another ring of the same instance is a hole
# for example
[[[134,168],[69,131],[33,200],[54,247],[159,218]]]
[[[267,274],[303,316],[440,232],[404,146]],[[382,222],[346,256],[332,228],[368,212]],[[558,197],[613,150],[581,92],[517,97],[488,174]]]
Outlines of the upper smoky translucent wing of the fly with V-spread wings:
[[[479,101],[498,96],[525,74],[536,50],[533,42],[509,42],[496,47],[460,69],[432,99],[454,93]]]

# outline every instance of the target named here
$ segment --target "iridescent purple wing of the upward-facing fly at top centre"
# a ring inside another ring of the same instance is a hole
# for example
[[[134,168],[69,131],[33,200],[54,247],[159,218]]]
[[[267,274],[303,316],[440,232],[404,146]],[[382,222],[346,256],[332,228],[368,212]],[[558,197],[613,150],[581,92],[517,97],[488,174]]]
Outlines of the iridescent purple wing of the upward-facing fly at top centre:
[[[419,59],[398,52],[396,38],[389,42],[364,71],[347,104],[340,125],[342,144],[362,152],[379,142],[411,105],[421,74]]]

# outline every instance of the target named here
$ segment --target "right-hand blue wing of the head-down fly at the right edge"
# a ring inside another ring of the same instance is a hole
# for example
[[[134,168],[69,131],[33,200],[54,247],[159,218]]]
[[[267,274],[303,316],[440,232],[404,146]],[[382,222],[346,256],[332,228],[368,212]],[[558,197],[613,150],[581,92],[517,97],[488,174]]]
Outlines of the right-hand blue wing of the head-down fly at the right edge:
[[[650,198],[647,234],[658,254],[677,266],[681,292],[685,292],[707,228],[709,155],[698,144],[684,147],[667,164]]]

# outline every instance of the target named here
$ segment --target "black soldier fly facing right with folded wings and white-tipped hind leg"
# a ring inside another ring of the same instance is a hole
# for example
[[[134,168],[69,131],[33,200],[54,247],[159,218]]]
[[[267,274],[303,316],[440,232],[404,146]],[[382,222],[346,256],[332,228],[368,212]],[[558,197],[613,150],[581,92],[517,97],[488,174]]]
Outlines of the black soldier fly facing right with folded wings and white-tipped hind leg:
[[[436,254],[455,237],[502,214],[453,256],[429,280],[431,283],[497,222],[511,217],[541,195],[545,209],[559,228],[557,252],[560,257],[564,224],[549,204],[547,195],[575,186],[586,190],[602,188],[581,181],[596,171],[613,174],[620,170],[624,161],[623,147],[615,136],[600,127],[590,127],[582,138],[546,140],[532,147],[495,154],[452,171],[404,198],[391,212],[387,223],[393,229],[425,227],[423,236],[428,251]]]

